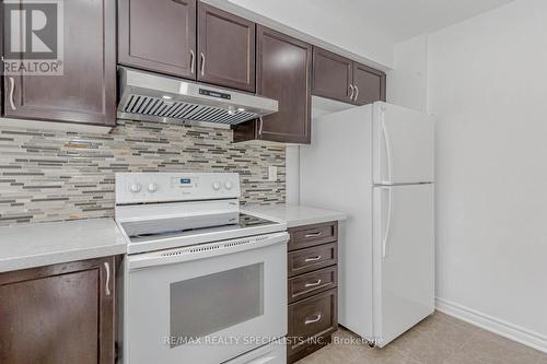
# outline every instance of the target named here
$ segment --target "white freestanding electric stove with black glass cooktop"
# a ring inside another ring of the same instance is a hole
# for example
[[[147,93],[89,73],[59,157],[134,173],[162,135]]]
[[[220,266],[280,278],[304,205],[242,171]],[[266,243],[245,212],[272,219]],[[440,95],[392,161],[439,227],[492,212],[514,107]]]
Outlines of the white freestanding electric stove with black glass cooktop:
[[[124,363],[286,363],[287,226],[240,196],[237,174],[116,175]]]

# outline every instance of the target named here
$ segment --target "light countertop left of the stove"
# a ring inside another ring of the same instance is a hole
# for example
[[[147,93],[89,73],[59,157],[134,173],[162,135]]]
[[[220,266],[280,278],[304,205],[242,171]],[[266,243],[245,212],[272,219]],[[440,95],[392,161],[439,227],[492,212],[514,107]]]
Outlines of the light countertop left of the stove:
[[[126,251],[126,242],[113,219],[0,227],[0,272]]]

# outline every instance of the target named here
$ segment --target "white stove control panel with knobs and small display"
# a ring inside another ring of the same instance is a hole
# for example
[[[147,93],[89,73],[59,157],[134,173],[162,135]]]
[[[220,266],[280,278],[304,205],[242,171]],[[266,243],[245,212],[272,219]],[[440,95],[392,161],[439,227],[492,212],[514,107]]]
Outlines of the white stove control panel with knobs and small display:
[[[118,173],[116,203],[240,198],[236,173]]]

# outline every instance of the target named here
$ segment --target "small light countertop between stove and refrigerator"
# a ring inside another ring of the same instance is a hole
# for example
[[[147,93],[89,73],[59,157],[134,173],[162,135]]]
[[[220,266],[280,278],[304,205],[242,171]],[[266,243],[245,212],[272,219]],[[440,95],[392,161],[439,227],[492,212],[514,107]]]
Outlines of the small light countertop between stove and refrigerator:
[[[316,209],[299,204],[244,206],[242,212],[264,219],[283,221],[287,227],[319,224],[347,219],[345,212]]]

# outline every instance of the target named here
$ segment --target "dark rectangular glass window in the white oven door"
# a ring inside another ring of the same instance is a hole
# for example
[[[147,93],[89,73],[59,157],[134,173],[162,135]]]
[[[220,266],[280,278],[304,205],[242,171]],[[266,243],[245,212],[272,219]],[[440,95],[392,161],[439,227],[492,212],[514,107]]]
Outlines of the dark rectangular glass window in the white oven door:
[[[171,284],[171,348],[264,314],[264,263]]]

